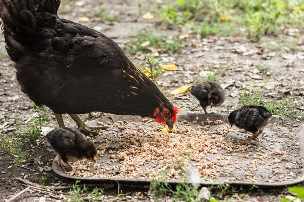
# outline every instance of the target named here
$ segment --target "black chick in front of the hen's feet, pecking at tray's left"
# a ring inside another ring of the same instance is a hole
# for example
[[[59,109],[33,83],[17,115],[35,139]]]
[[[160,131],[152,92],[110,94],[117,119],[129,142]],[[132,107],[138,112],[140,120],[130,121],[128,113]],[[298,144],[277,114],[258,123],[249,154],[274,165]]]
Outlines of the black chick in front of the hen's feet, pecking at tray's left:
[[[70,161],[91,160],[96,162],[97,150],[93,142],[85,139],[85,136],[77,129],[55,128],[48,133],[47,139],[54,152],[58,154],[58,166],[66,171],[61,163],[61,159],[68,165],[68,169],[73,168],[68,163]]]

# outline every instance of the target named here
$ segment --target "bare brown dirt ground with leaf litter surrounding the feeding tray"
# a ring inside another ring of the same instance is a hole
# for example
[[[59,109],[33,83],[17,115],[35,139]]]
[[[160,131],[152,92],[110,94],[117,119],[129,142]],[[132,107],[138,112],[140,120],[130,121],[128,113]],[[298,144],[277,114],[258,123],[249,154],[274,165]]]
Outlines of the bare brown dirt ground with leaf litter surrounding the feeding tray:
[[[76,2],[76,1],[75,1]],[[179,67],[178,71],[166,72],[158,79],[158,85],[169,100],[179,106],[180,113],[202,113],[197,100],[189,92],[172,96],[169,92],[177,87],[188,85],[202,80],[199,73],[202,70],[212,69],[218,73],[216,81],[225,86],[227,92],[226,101],[217,108],[208,108],[208,112],[219,114],[228,114],[237,108],[238,95],[245,90],[255,89],[264,94],[269,99],[276,96],[283,98],[293,96],[297,100],[298,106],[304,106],[304,65],[303,60],[295,57],[289,57],[290,54],[296,55],[299,49],[304,51],[303,45],[297,45],[297,48],[283,46],[279,50],[270,50],[269,47],[261,43],[248,42],[243,37],[218,37],[208,36],[202,38],[194,34],[189,34],[183,29],[166,28],[159,26],[155,20],[144,20],[139,14],[137,0],[112,0],[99,1],[83,0],[75,3],[67,1],[62,4],[59,16],[73,21],[79,20],[79,17],[97,13],[100,7],[111,12],[111,14],[120,16],[118,21],[104,23],[99,17],[90,17],[89,22],[82,24],[97,29],[113,38],[121,47],[124,47],[130,41],[130,36],[138,31],[146,29],[152,33],[161,35],[182,35],[187,36],[184,41],[186,47],[178,54],[165,53],[160,49],[154,49],[152,53],[164,58],[164,62],[174,63]],[[143,10],[149,8],[150,2],[143,3]],[[302,32],[303,33],[303,32]],[[302,35],[303,36],[303,35]],[[269,36],[269,41],[276,41],[275,36]],[[303,39],[303,37],[302,37]],[[130,60],[135,66],[143,64],[143,54],[128,54]],[[258,67],[266,66],[267,70],[257,70]],[[257,70],[257,71],[256,71]],[[269,76],[267,85],[265,79]],[[0,36],[0,126],[6,123],[14,122],[18,117],[23,122],[28,120],[33,114],[33,102],[20,91],[13,62],[11,62],[5,51],[4,38]],[[45,127],[56,127],[57,123],[50,109],[46,109],[46,114],[51,116],[51,121],[44,124]],[[84,120],[92,120],[95,117],[89,117],[87,114],[82,116]],[[64,117],[67,126],[75,127],[74,122]],[[280,120],[279,124],[286,127],[290,133],[297,134],[299,126],[303,121],[296,118]],[[13,126],[12,126],[13,127]],[[7,127],[6,127],[7,128]],[[0,129],[1,130],[1,129]],[[2,131],[3,133],[14,133],[14,130]],[[74,182],[61,178],[51,171],[51,163],[54,153],[51,151],[45,137],[41,136],[34,143],[23,140],[19,147],[26,152],[25,161],[20,167],[12,170],[12,156],[6,150],[0,150],[0,171],[6,173],[0,174],[0,201],[5,201],[16,195],[19,191],[25,189],[16,177],[22,177],[31,182],[38,183],[43,176],[43,172],[48,172],[48,186],[65,186]],[[303,186],[304,184],[299,186]],[[122,193],[127,193],[124,197],[127,201],[153,201],[148,194],[148,186],[120,186]],[[103,201],[120,201],[117,197],[117,185],[104,185],[102,187]],[[67,191],[67,190],[63,190]],[[246,202],[278,202],[278,196],[288,195],[286,188],[280,189],[255,189],[248,191],[249,196]],[[43,190],[30,189],[19,196],[16,201],[63,201],[65,194],[47,193]],[[46,199],[44,198],[46,197]],[[161,199],[161,201],[172,201],[170,197]],[[235,200],[236,201],[236,200]]]

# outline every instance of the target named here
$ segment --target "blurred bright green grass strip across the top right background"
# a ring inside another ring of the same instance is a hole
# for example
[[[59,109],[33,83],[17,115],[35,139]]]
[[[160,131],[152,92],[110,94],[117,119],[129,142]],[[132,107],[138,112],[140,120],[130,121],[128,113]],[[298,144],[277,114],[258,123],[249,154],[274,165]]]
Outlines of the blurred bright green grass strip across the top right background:
[[[182,25],[201,35],[231,35],[246,31],[249,38],[301,27],[304,0],[175,0],[156,9],[161,23]]]

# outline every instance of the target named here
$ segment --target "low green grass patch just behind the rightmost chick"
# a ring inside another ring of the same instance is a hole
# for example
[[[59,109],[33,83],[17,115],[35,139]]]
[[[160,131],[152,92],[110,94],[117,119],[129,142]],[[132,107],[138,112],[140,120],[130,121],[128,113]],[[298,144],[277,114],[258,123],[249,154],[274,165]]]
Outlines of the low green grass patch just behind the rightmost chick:
[[[279,115],[281,117],[293,117],[304,120],[304,113],[297,108],[295,99],[276,97],[274,99],[267,99],[258,91],[245,91],[240,93],[238,103],[244,105],[258,105],[268,109],[272,115]]]

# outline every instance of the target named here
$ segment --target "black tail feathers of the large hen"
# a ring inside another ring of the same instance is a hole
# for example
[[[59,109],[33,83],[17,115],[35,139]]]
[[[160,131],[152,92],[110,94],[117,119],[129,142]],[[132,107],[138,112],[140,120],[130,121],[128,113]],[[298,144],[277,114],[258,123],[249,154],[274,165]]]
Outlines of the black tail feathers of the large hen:
[[[48,46],[59,5],[60,0],[0,0],[0,26],[11,60],[22,57],[23,47]]]

